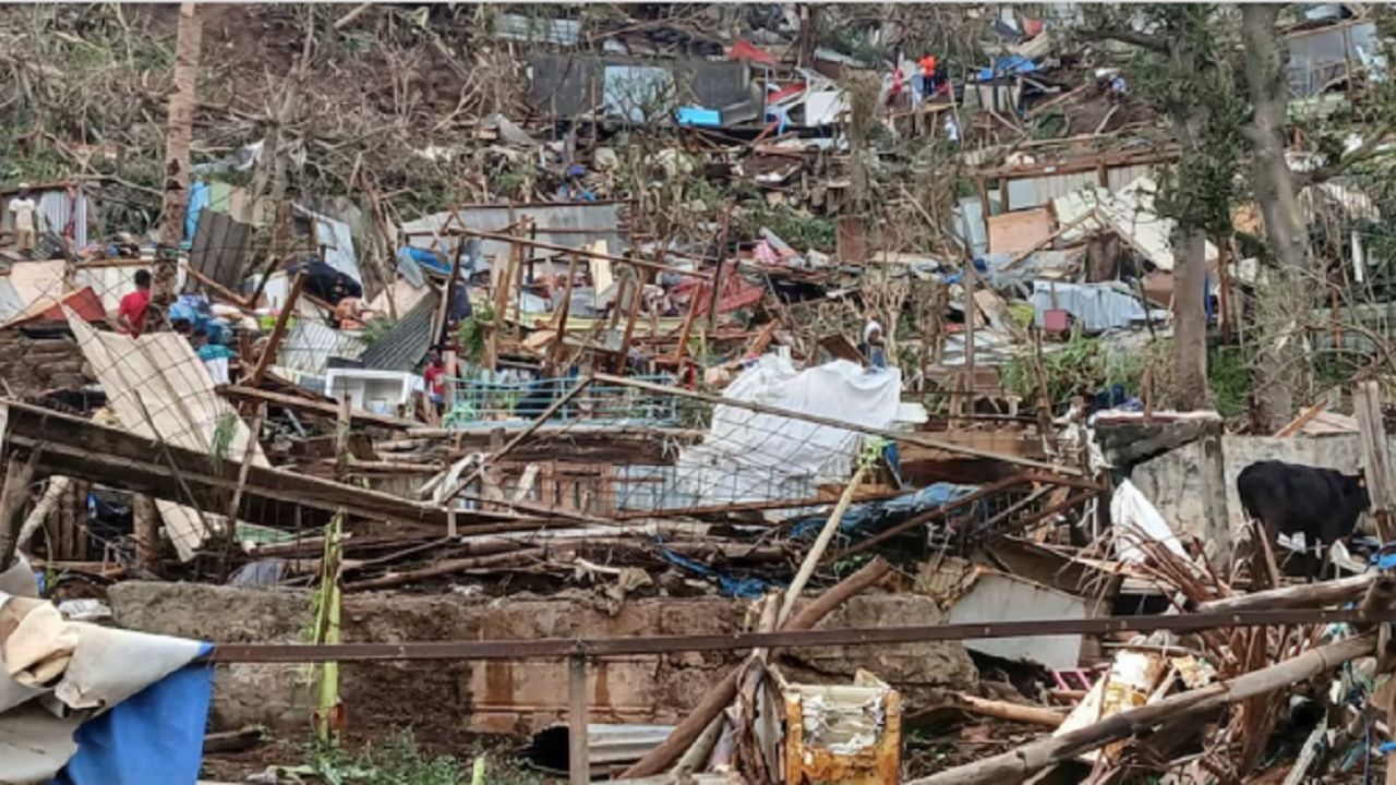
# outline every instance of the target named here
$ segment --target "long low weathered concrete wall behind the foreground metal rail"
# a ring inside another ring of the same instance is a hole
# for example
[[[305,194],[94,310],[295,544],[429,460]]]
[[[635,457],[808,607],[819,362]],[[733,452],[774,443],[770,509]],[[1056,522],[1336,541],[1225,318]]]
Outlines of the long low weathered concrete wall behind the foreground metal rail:
[[[303,643],[310,595],[201,584],[128,581],[110,588],[116,623],[135,630],[215,643]],[[751,603],[720,598],[628,601],[614,615],[589,596],[480,599],[459,595],[349,595],[345,641],[498,640],[733,633]],[[938,624],[935,602],[919,595],[868,594],[847,602],[826,626]],[[611,658],[591,668],[592,719],[677,722],[740,655],[727,652]],[[979,675],[958,643],[803,650],[786,669],[794,680],[838,682],[868,669],[909,698],[940,689],[972,689]],[[412,725],[419,738],[462,742],[470,732],[532,732],[567,707],[558,662],[343,663],[349,726],[383,732]],[[216,729],[264,724],[304,729],[313,697],[309,669],[223,665],[214,683]]]

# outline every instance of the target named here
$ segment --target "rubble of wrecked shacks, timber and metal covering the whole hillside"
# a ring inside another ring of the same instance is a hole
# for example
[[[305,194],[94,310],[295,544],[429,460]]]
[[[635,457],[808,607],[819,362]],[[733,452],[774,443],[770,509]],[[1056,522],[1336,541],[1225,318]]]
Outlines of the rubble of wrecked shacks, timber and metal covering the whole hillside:
[[[158,10],[53,11],[74,32],[42,42],[0,14],[49,120],[0,172],[15,684],[116,624],[188,638],[148,683],[218,662],[195,691],[239,743],[546,728],[574,782],[1336,781],[1383,753],[1392,207],[1385,169],[1335,168],[1388,131],[1301,130],[1382,99],[1367,10],[1282,31],[1323,299],[1284,311],[1312,384],[1261,427],[1235,376],[1276,318],[1266,196],[1189,225],[1195,148],[1082,14],[307,8],[184,8],[202,63]],[[53,71],[116,28],[78,82],[102,109]],[[133,77],[166,47],[179,78]],[[156,225],[162,198],[187,207]],[[1173,411],[1189,327],[1216,376]],[[1362,474],[1329,580],[1240,504],[1276,460]]]

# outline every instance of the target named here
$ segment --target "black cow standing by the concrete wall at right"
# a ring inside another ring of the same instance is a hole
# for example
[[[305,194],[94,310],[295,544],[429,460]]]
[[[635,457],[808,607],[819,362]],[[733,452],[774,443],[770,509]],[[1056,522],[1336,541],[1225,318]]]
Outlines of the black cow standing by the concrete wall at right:
[[[1247,517],[1265,525],[1272,543],[1282,534],[1302,532],[1305,549],[1322,545],[1325,553],[1353,534],[1357,517],[1372,504],[1362,475],[1282,461],[1258,461],[1241,469],[1235,493]],[[1315,560],[1309,580],[1319,570],[1322,560]]]

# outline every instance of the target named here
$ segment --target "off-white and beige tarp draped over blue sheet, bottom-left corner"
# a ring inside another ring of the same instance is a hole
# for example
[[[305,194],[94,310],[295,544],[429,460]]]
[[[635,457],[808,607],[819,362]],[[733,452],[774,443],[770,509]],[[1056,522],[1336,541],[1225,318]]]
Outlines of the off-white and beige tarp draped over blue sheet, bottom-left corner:
[[[49,782],[77,753],[80,725],[202,651],[198,641],[68,622],[35,589],[22,557],[0,575],[0,782]]]

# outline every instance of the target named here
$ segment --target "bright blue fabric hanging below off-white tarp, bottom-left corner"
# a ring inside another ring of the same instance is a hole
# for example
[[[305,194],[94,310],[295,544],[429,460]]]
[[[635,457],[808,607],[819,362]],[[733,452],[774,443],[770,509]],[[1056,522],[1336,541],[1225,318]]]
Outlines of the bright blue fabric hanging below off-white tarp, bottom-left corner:
[[[214,651],[204,644],[200,659]],[[78,751],[50,785],[194,785],[214,666],[193,663],[84,722]]]

